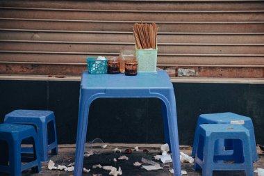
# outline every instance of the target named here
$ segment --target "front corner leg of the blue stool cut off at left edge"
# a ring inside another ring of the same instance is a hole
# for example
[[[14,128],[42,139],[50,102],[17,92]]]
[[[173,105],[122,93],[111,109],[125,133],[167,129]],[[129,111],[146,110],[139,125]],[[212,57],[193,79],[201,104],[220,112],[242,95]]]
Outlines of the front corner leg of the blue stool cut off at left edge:
[[[21,176],[21,141],[13,141],[13,146],[10,146],[10,168],[14,168],[11,170],[11,176]]]

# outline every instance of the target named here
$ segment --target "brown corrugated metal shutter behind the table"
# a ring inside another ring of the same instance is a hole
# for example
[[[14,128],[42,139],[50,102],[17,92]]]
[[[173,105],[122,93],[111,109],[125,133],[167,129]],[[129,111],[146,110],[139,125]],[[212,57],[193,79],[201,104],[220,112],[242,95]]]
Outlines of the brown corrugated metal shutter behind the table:
[[[158,67],[176,77],[264,77],[264,1],[0,1],[0,74],[80,75],[87,56],[133,49],[156,22]]]

